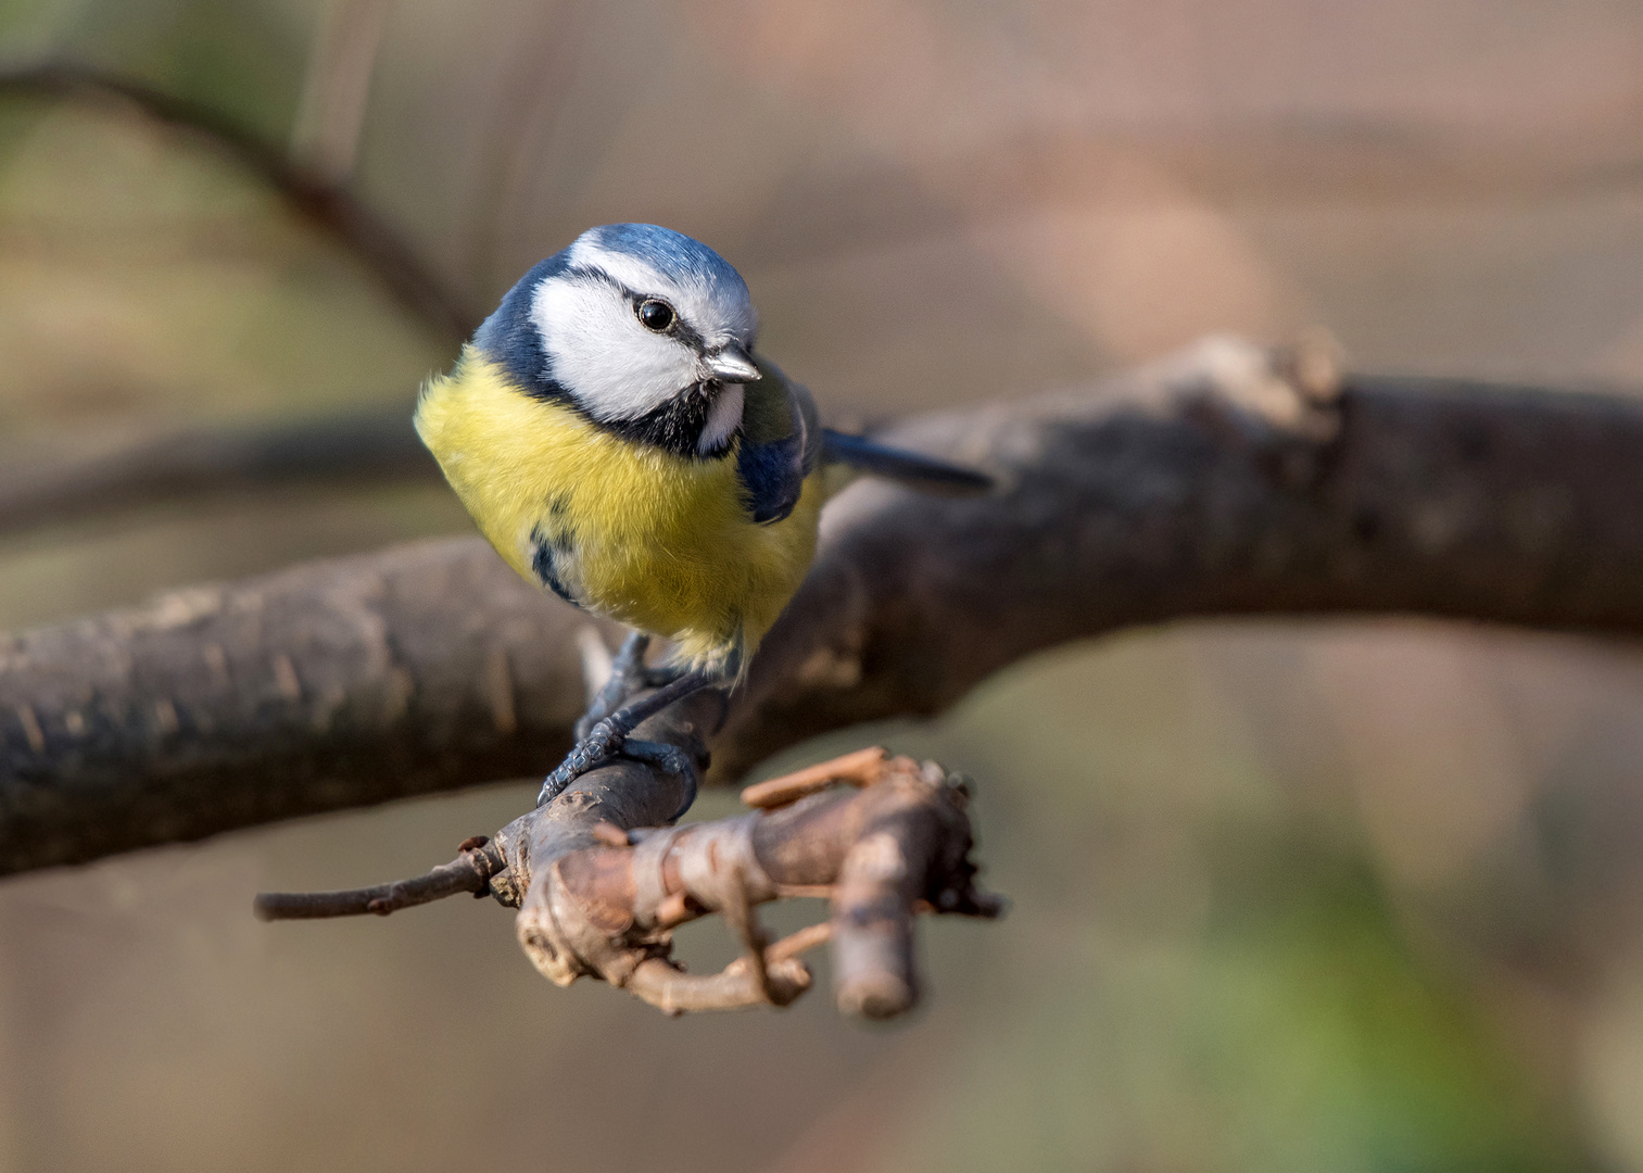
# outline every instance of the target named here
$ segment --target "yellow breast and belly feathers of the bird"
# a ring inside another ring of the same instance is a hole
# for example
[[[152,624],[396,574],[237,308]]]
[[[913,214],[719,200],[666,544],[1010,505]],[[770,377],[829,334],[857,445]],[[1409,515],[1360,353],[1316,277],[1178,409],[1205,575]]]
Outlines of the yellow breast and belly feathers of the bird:
[[[473,350],[429,383],[417,432],[514,570],[674,639],[697,667],[751,654],[815,554],[818,475],[792,516],[756,526],[734,457],[626,442],[522,394]]]

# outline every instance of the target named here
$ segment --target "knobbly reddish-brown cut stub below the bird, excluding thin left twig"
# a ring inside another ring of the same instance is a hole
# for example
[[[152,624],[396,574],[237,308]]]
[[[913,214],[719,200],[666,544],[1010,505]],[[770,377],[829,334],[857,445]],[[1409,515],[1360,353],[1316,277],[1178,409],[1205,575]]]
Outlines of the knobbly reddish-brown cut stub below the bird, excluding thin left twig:
[[[526,887],[521,946],[560,986],[601,978],[680,1014],[787,1005],[810,987],[797,953],[831,936],[840,1009],[872,1019],[902,1014],[918,996],[914,913],[994,917],[1002,902],[974,887],[964,787],[933,762],[874,756],[876,775],[859,790],[654,830],[636,835],[634,846],[610,846],[601,835],[552,859]],[[841,766],[836,777],[861,782],[861,754]],[[503,838],[519,844],[511,869],[527,871],[531,836]],[[764,940],[756,905],[822,894],[831,897],[825,932]],[[743,956],[718,974],[687,974],[669,959],[672,930],[710,913],[736,932]]]

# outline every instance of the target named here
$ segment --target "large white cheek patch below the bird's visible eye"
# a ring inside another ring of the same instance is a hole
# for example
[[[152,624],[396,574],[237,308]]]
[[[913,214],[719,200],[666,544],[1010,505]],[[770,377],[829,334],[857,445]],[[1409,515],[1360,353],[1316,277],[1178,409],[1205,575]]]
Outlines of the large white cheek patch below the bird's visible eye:
[[[639,325],[603,283],[544,281],[531,319],[552,340],[554,380],[596,419],[637,419],[698,378],[690,348]]]

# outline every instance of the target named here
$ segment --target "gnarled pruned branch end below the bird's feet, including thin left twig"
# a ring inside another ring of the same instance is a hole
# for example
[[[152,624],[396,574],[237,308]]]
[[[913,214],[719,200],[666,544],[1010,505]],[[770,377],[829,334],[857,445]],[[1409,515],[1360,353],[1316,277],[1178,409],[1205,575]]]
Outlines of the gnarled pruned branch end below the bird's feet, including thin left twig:
[[[644,731],[690,746],[700,761],[702,739],[680,713]],[[519,908],[519,945],[545,978],[559,986],[598,978],[669,1014],[787,1005],[812,981],[798,954],[831,940],[838,1005],[869,1019],[902,1014],[918,997],[917,912],[1002,910],[974,887],[968,790],[935,762],[861,751],[766,784],[751,815],[629,835],[633,820],[660,810],[660,777],[637,762],[595,770],[427,876],[353,892],[263,894],[255,908],[263,920],[388,915],[488,884]],[[830,782],[859,789],[825,794]],[[830,920],[771,945],[754,907],[792,895],[828,895]],[[687,974],[669,959],[672,930],[713,913],[736,932],[743,954],[718,974]]]

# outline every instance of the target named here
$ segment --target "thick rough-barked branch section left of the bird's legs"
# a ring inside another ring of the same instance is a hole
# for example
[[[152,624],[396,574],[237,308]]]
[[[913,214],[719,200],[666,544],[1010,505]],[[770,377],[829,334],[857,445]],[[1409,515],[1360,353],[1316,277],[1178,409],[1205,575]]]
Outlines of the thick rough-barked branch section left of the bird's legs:
[[[0,867],[542,772],[583,623],[458,539],[7,639]]]

